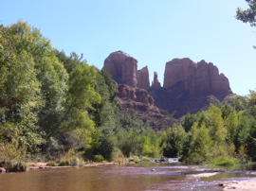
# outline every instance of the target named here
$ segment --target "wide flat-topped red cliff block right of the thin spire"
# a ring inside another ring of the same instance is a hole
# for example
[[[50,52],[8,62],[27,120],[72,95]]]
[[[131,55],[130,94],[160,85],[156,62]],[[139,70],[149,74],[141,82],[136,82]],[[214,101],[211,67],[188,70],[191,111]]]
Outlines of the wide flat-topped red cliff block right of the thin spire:
[[[229,79],[212,63],[200,61],[194,63],[190,59],[174,59],[166,63],[164,88],[183,83],[189,96],[214,95],[228,96],[231,94]]]

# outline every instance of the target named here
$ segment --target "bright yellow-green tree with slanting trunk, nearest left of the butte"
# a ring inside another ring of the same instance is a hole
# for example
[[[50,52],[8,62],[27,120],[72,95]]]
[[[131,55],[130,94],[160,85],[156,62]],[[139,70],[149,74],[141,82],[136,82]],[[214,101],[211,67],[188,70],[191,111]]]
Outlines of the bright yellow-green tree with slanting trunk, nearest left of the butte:
[[[93,110],[93,103],[101,101],[101,96],[94,90],[96,76],[97,70],[85,63],[77,65],[71,72],[64,113],[51,129],[48,138],[59,130],[94,129],[94,122],[87,111]]]

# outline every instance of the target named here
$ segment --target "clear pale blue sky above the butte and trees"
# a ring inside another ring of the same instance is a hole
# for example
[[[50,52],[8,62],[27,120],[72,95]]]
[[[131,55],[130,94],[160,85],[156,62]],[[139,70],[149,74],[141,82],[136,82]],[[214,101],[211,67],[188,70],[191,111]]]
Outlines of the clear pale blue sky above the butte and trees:
[[[0,24],[35,26],[52,46],[83,54],[101,69],[121,50],[148,66],[163,84],[165,64],[175,58],[212,62],[229,78],[233,93],[256,88],[256,27],[235,19],[245,0],[8,0]]]

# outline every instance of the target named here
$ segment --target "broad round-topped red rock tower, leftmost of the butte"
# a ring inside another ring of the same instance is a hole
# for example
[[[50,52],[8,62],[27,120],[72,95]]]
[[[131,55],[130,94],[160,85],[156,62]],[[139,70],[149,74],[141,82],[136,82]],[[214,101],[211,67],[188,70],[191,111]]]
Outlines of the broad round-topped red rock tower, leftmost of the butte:
[[[109,72],[119,84],[137,87],[137,60],[130,55],[122,51],[113,52],[105,59],[102,69]]]

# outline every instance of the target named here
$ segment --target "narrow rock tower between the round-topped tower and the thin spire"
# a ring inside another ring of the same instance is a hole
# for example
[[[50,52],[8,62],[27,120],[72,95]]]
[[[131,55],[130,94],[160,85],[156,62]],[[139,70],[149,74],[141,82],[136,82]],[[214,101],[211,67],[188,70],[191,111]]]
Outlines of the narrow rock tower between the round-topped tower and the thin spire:
[[[148,90],[150,88],[148,66],[137,70],[137,88]]]

